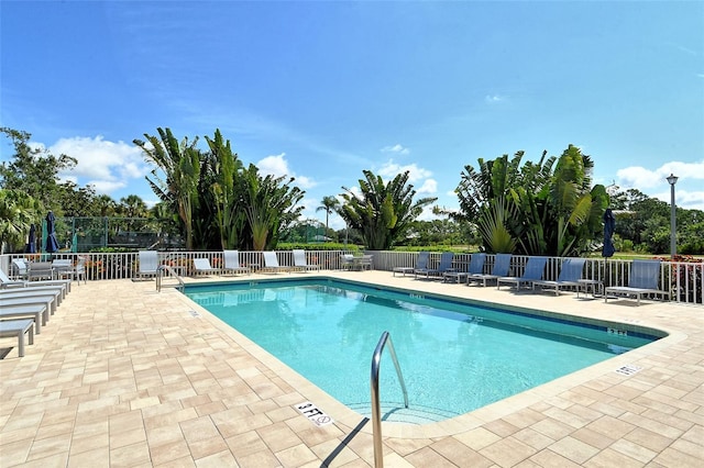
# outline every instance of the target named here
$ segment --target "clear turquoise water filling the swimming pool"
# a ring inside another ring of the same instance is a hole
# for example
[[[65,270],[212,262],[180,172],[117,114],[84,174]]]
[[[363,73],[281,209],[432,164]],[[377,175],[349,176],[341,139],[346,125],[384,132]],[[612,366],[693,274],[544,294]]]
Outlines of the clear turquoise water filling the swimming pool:
[[[388,421],[463,414],[658,339],[337,280],[198,286],[186,294],[365,415],[372,355],[388,331],[410,406],[402,410],[385,355],[380,392]]]

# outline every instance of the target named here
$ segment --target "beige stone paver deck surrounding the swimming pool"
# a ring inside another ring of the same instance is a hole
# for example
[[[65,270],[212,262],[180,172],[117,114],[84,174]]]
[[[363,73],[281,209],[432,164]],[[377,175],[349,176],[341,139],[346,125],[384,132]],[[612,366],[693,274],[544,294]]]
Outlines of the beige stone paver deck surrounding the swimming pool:
[[[704,464],[702,307],[656,301],[635,307],[627,300],[604,304],[603,299],[572,293],[517,294],[388,271],[323,276],[670,333],[449,421],[383,423],[387,467]],[[0,339],[0,348],[10,346],[14,348],[0,360],[3,468],[374,465],[371,422],[179,292],[156,292],[154,281],[74,285],[24,357],[18,357],[16,338]],[[639,370],[617,372],[625,366]],[[382,371],[389,369],[391,361],[382,366]],[[305,401],[334,423],[314,425],[295,409]]]

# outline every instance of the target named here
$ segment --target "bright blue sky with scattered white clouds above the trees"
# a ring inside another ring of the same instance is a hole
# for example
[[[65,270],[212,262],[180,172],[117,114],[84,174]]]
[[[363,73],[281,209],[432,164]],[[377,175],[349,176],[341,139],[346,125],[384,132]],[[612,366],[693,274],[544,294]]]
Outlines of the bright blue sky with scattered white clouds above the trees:
[[[116,200],[156,201],[132,141],[161,126],[220,129],[322,221],[363,169],[409,169],[457,208],[465,165],[569,144],[595,182],[669,201],[674,172],[678,205],[704,210],[701,1],[2,0],[0,18],[0,125]]]

